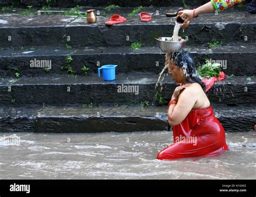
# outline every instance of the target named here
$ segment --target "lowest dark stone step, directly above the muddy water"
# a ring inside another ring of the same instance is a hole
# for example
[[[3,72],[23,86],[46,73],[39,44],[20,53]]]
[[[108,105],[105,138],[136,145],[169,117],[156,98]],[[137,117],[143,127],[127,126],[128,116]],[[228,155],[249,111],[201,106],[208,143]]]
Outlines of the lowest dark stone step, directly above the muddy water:
[[[253,131],[255,105],[212,105],[225,131]],[[167,130],[167,107],[1,107],[0,132],[136,132]]]

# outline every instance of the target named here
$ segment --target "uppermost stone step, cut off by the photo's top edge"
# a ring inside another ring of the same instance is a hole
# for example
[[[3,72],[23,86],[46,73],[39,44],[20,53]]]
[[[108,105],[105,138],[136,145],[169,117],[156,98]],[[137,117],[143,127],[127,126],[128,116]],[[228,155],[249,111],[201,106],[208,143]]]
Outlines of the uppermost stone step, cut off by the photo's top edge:
[[[185,5],[191,5],[191,6],[199,6],[207,3],[207,0],[190,0],[190,1],[184,1]],[[250,1],[246,0],[245,3],[249,3]],[[139,0],[139,1],[132,1],[132,0],[55,0],[55,1],[50,1],[48,4],[46,1],[41,1],[41,0],[23,0],[23,1],[12,1],[12,0],[5,0],[0,2],[0,6],[22,6],[23,8],[26,8],[28,5],[33,5],[35,7],[40,7],[43,5],[50,5],[50,6],[55,6],[55,7],[64,7],[64,8],[72,8],[77,5],[80,6],[107,6],[107,5],[118,5],[118,6],[123,6],[123,7],[136,7],[136,6],[185,6],[183,1],[180,0],[165,0],[165,1],[160,1],[160,0],[151,0],[151,1],[146,1],[146,0]]]

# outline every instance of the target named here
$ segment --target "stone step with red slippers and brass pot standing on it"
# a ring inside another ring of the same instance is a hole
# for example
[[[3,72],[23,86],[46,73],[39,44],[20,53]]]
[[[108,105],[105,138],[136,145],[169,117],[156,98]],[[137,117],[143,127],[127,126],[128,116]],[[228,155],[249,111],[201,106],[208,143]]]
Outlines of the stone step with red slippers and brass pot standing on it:
[[[158,16],[154,13],[149,23],[140,22],[138,14],[134,17],[124,15],[127,18],[125,23],[112,26],[104,24],[110,16],[98,16],[95,24],[87,24],[85,17],[77,16],[10,14],[0,17],[0,47],[56,47],[63,44],[72,47],[118,47],[132,43],[152,47],[157,46],[156,37],[171,37],[174,28],[174,18],[166,17],[164,12]],[[225,46],[255,43],[255,31],[256,18],[247,11],[233,9],[233,12],[221,12],[218,16],[209,13],[197,17],[184,32],[180,30],[179,35],[188,39],[188,46],[207,46],[210,43]]]

